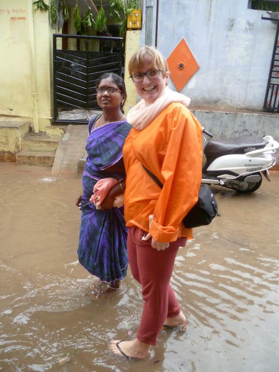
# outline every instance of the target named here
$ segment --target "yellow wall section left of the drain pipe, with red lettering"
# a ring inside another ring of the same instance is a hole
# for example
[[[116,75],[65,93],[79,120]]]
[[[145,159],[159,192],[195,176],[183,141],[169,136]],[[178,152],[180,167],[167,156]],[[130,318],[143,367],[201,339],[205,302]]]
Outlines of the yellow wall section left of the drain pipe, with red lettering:
[[[31,116],[27,2],[27,0],[0,1],[1,115]],[[14,20],[13,17],[25,19]]]

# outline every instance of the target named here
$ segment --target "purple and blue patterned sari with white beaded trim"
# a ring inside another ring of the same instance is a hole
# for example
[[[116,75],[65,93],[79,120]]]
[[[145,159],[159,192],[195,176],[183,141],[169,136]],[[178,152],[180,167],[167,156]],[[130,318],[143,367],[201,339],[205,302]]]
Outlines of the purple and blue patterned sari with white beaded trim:
[[[127,273],[127,229],[122,208],[96,210],[88,203],[95,183],[101,178],[119,181],[125,174],[108,173],[108,167],[122,159],[122,148],[131,129],[127,122],[105,124],[91,130],[87,139],[87,159],[83,173],[81,224],[78,258],[89,273],[111,283]]]

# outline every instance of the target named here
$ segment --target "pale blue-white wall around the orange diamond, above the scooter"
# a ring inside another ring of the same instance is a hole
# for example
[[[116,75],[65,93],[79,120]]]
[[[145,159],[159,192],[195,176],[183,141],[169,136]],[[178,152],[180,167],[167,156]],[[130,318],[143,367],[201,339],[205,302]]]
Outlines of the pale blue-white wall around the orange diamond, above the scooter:
[[[191,98],[191,107],[262,109],[276,25],[261,19],[266,12],[247,4],[159,0],[157,48],[168,57],[184,38],[200,67],[181,91]],[[153,45],[155,32],[154,22]],[[145,29],[140,45],[144,38]],[[172,82],[170,87],[175,90]]]

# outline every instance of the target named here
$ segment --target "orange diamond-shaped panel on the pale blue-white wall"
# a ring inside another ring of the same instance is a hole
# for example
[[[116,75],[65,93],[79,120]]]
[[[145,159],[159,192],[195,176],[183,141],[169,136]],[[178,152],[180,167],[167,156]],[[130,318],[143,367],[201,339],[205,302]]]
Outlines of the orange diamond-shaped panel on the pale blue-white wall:
[[[170,76],[174,82],[175,88],[179,92],[199,69],[199,65],[184,39],[177,44],[174,51],[167,59],[167,62],[171,72]]]

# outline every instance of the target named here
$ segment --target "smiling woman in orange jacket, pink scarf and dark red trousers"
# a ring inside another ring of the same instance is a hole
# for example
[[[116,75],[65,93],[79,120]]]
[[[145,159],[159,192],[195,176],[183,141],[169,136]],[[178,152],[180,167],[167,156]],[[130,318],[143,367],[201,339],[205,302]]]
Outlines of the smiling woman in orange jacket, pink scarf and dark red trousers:
[[[170,279],[178,248],[192,237],[182,219],[198,198],[202,127],[186,108],[190,99],[168,88],[167,61],[156,48],[145,46],[134,53],[129,72],[142,100],[127,116],[133,128],[123,147],[124,217],[129,264],[141,284],[144,305],[137,337],[112,340],[109,349],[142,359],[157,344],[162,327],[186,324]]]

